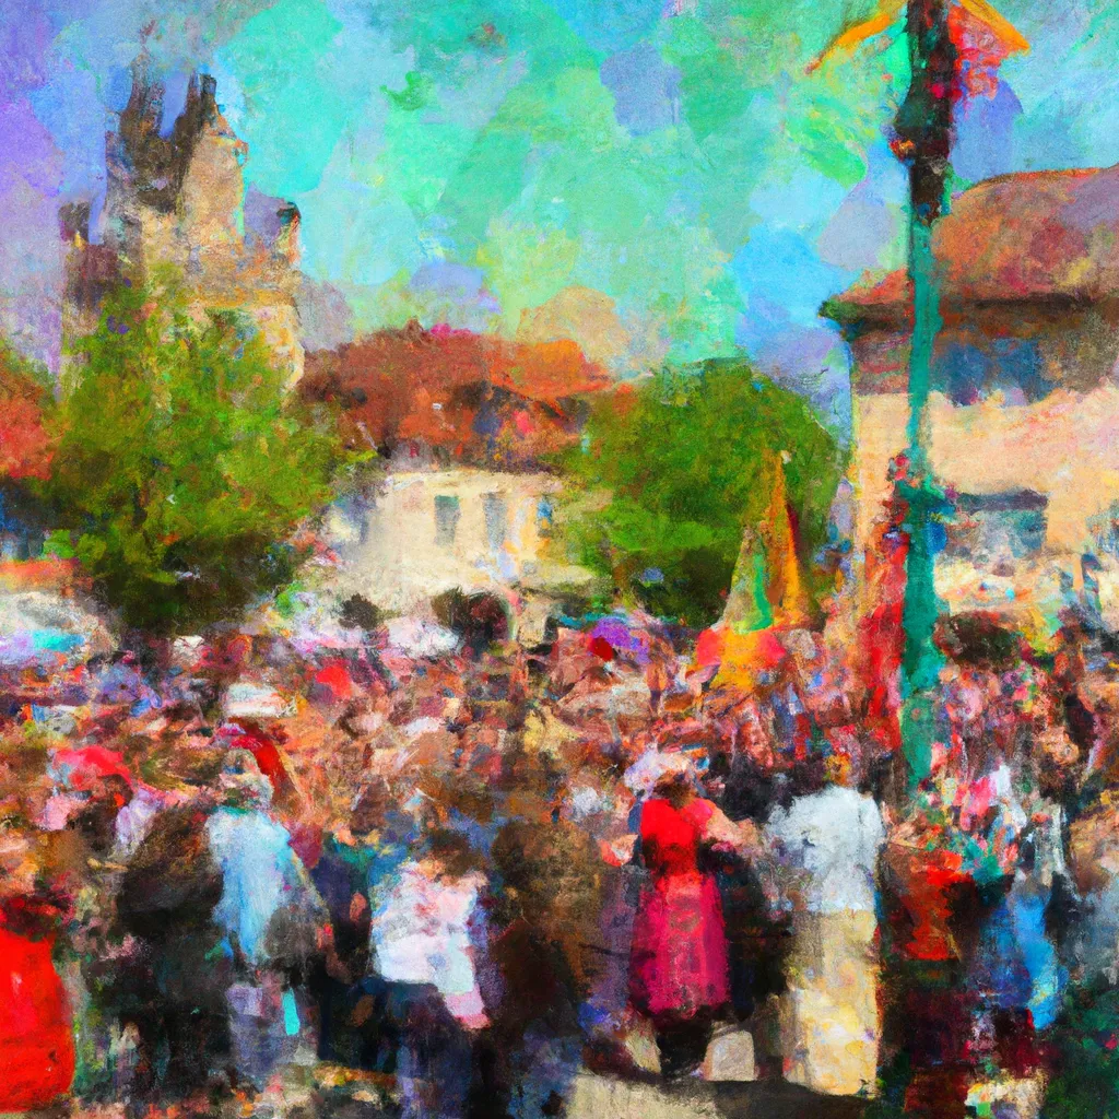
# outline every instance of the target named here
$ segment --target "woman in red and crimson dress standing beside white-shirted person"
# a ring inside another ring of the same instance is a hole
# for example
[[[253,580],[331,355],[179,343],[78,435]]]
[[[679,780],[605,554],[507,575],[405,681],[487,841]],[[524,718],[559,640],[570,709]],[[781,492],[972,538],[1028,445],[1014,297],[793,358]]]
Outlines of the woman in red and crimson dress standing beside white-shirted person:
[[[697,796],[687,760],[666,771],[641,809],[641,890],[630,950],[630,1000],[651,1019],[661,1072],[685,1075],[703,1061],[717,1012],[730,1002],[726,932],[714,874],[700,867],[705,846],[752,853],[753,825],[727,819]]]

